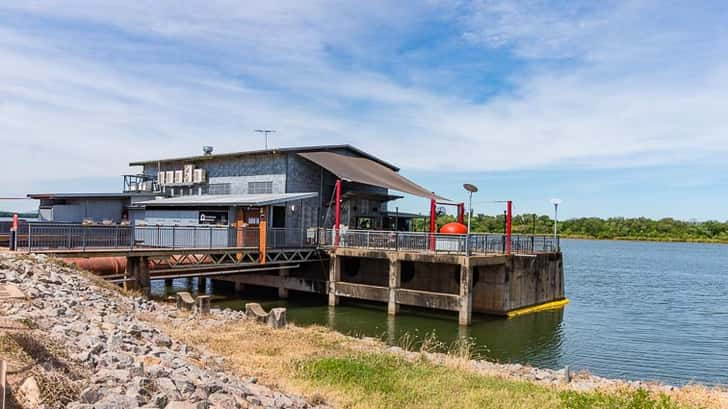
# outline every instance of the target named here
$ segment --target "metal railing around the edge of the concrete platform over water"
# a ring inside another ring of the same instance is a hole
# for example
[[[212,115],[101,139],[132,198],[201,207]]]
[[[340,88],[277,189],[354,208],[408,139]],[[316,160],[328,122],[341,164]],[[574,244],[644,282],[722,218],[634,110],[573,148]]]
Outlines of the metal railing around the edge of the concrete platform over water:
[[[455,254],[536,254],[555,252],[559,238],[548,235],[512,235],[510,247],[505,235],[492,233],[440,234],[376,230],[320,229],[322,247],[368,248],[409,252]]]

